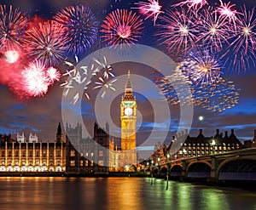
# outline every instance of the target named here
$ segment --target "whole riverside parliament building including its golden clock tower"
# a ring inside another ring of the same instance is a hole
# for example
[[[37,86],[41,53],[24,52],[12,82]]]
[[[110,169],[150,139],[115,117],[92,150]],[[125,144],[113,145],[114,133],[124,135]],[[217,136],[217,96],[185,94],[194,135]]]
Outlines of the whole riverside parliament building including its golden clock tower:
[[[26,141],[24,133],[17,139],[0,137],[1,172],[62,172],[67,174],[108,173],[124,171],[136,166],[137,103],[130,82],[130,71],[125,94],[120,102],[121,147],[109,138],[108,123],[100,128],[95,122],[93,138],[82,138],[82,126],[67,123],[65,138],[59,123],[55,142],[38,142],[31,133]]]

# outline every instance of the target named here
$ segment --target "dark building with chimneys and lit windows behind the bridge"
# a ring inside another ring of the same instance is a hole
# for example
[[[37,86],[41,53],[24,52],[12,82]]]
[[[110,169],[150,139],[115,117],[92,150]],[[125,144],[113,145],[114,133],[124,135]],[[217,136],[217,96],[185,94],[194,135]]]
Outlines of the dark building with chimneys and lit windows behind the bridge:
[[[179,141],[179,139],[185,139]],[[172,145],[182,144],[177,146],[177,151],[172,153]],[[179,143],[182,142],[182,143]],[[210,154],[224,153],[230,150],[239,150],[243,147],[239,139],[236,138],[234,129],[231,129],[230,136],[226,131],[224,136],[216,130],[216,133],[212,137],[205,137],[202,133],[202,129],[199,130],[197,137],[190,137],[186,131],[177,133],[174,136],[171,144],[166,148],[166,145],[162,145],[159,150],[154,152],[154,155],[150,157],[150,160],[155,163],[161,164],[171,160],[179,158],[188,158],[195,156],[207,156]]]

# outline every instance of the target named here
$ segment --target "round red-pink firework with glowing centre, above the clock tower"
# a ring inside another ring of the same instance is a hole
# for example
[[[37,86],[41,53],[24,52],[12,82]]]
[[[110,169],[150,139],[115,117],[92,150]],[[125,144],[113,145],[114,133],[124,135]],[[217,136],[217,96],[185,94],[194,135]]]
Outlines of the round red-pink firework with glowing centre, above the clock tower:
[[[137,43],[143,33],[143,20],[136,13],[126,9],[113,11],[103,22],[101,37],[103,42],[111,47]]]

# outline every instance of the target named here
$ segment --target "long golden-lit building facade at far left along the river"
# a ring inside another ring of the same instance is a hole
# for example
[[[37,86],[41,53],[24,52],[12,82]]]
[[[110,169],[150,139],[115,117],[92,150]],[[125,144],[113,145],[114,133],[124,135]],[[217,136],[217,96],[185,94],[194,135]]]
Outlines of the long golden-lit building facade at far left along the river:
[[[59,124],[59,129],[60,129]],[[61,130],[59,130],[61,132]],[[29,142],[24,133],[17,139],[0,140],[0,172],[64,172],[66,170],[66,144],[38,142],[31,134]]]

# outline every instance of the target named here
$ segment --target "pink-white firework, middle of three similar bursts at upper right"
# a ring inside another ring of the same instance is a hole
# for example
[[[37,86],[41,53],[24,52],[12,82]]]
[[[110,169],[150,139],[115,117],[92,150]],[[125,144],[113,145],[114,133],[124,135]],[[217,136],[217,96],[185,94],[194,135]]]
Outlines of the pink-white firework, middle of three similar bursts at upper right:
[[[209,48],[221,50],[224,43],[228,44],[228,39],[232,33],[230,23],[223,17],[219,17],[217,12],[212,12],[209,9],[204,9],[200,15],[199,37],[197,43]]]

